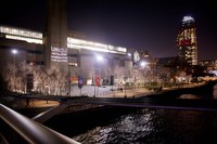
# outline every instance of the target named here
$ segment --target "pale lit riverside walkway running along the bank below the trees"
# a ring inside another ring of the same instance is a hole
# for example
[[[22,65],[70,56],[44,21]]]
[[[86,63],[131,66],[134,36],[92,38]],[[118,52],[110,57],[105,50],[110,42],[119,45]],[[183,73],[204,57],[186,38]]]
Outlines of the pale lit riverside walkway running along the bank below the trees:
[[[203,83],[199,83],[201,86]],[[184,86],[184,87],[195,87],[195,84]],[[169,88],[177,89],[178,87]],[[111,91],[111,90],[114,91]],[[164,88],[163,91],[169,90],[168,88]],[[94,86],[84,86],[81,89],[81,95],[87,95],[89,97],[139,97],[145,96],[150,94],[154,94],[153,90],[148,90],[144,88],[136,88],[130,90],[117,90],[117,87],[106,86],[106,87],[94,87]],[[71,96],[80,96],[80,89],[77,86],[72,87]],[[64,95],[63,95],[64,97]],[[5,100],[3,100],[5,99]],[[18,99],[13,96],[1,96],[1,101],[8,103],[8,105],[12,107],[51,107],[59,105],[59,102],[55,101],[44,101],[44,100],[27,100],[27,99]],[[8,101],[8,102],[7,102]]]

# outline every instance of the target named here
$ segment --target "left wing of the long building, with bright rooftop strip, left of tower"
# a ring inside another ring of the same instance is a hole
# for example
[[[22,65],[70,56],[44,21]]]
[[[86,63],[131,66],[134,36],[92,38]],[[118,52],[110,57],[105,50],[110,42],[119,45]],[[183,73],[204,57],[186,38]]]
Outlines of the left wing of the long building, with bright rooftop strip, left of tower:
[[[8,65],[13,61],[11,50],[17,50],[17,62],[25,61],[29,65],[43,65],[43,40],[42,32],[17,28],[12,26],[0,26],[0,64]],[[3,68],[3,67],[2,67]],[[1,69],[3,70],[3,69]]]

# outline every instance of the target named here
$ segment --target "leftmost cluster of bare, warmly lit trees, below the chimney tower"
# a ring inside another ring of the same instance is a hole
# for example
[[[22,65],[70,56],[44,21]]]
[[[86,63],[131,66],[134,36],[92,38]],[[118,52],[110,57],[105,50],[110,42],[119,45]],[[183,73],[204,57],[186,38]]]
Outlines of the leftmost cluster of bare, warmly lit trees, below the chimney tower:
[[[16,66],[9,63],[7,73],[3,73],[7,89],[27,92],[28,74],[34,75],[33,92],[64,95],[68,91],[68,74],[61,73],[58,67],[48,69],[44,66],[27,65],[25,62],[18,63]]]

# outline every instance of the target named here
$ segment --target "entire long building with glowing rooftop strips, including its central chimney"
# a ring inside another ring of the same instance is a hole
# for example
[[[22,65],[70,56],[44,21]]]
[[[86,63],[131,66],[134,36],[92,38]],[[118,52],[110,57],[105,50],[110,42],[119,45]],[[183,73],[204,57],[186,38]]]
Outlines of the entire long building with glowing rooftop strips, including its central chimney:
[[[67,29],[65,2],[48,0],[48,19],[43,32],[0,25],[1,65],[13,62],[11,50],[16,49],[17,64],[25,62],[60,69],[64,76],[71,78],[81,75],[86,81],[92,79],[97,63],[104,81],[110,81],[111,76],[117,75],[118,68],[129,71],[132,61],[127,55],[127,48],[94,42]],[[102,64],[95,60],[97,55],[102,55]],[[1,69],[4,70],[7,69]]]

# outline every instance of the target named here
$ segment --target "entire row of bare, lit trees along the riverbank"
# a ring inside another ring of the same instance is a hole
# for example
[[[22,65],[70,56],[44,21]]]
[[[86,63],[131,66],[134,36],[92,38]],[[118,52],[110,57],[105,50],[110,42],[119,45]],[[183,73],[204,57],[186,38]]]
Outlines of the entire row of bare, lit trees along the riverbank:
[[[9,63],[7,73],[0,77],[2,87],[16,92],[27,92],[27,75],[34,75],[33,92],[43,94],[65,95],[69,90],[69,78],[73,76],[82,76],[85,79],[91,79],[94,74],[94,68],[81,69],[79,67],[69,67],[71,73],[63,73],[59,66],[46,68],[44,66],[27,65],[25,62],[14,65]],[[113,68],[102,66],[100,68],[101,78],[110,84],[111,76],[114,76],[114,84],[117,87],[145,87],[150,83],[162,86],[165,83],[177,83],[176,76],[188,78],[186,73],[171,73],[170,68],[163,68],[157,73],[156,68],[145,67],[143,69],[119,67],[115,65]]]

